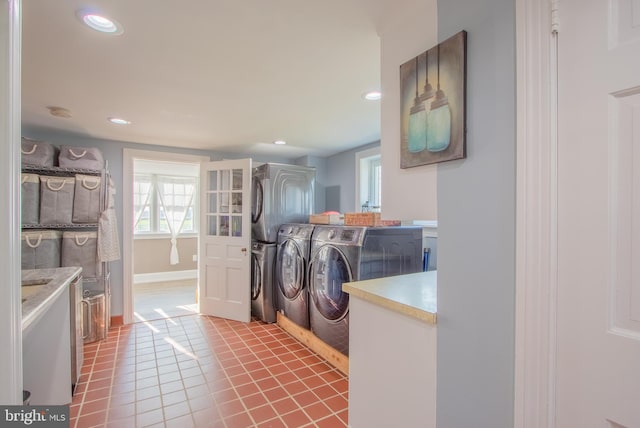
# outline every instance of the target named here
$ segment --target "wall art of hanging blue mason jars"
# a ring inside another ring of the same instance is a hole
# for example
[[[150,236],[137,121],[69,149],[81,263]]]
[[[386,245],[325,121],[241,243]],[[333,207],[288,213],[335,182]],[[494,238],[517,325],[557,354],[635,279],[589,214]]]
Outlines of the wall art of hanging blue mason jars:
[[[400,66],[400,168],[466,156],[467,32]]]

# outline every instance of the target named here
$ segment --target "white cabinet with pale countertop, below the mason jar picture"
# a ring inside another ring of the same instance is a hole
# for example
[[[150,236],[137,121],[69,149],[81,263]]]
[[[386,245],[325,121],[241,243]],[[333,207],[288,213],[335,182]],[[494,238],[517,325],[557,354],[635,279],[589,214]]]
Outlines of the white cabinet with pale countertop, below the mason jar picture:
[[[343,284],[350,294],[352,428],[435,428],[436,275]]]

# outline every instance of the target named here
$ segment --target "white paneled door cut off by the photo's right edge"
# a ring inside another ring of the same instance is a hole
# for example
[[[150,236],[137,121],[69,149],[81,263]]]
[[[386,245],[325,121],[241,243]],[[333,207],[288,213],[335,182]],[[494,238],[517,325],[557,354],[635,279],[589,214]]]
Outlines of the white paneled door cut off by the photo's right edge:
[[[640,427],[640,0],[561,0],[556,427]]]

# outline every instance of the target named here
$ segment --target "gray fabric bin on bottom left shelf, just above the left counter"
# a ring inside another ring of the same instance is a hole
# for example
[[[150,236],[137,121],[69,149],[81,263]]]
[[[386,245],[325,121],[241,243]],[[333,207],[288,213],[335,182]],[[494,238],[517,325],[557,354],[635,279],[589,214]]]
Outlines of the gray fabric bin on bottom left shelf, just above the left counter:
[[[60,267],[61,237],[58,230],[22,232],[22,269]]]

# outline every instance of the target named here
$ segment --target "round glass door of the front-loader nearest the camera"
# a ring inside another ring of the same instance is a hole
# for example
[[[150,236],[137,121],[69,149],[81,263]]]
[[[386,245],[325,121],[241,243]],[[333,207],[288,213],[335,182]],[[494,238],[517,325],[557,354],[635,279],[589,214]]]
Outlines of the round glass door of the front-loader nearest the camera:
[[[325,245],[309,267],[309,293],[315,308],[328,320],[338,321],[349,311],[349,294],[342,283],[351,282],[351,269],[340,250]]]

